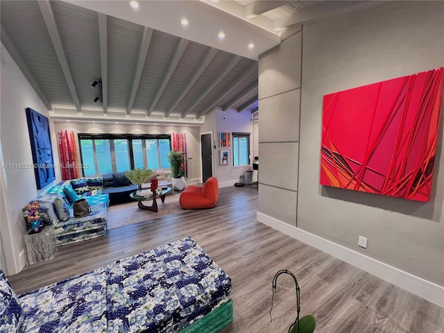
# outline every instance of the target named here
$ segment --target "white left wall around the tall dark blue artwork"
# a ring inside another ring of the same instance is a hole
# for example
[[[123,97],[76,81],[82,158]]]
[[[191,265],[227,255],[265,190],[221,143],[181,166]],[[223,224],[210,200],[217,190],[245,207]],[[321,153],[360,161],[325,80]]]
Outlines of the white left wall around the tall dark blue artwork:
[[[44,103],[1,44],[1,163],[33,164],[26,108],[33,108],[46,117],[49,115]],[[56,137],[53,122],[49,123],[54,148]],[[58,160],[56,149],[53,149],[53,157],[55,161]],[[22,237],[26,227],[22,207],[28,200],[37,196],[38,191],[33,169],[12,168],[3,169],[2,172],[2,205],[6,206],[6,210],[1,213],[1,241],[6,270],[8,274],[15,274],[24,266],[25,258]],[[57,175],[60,175],[59,170],[56,170]]]

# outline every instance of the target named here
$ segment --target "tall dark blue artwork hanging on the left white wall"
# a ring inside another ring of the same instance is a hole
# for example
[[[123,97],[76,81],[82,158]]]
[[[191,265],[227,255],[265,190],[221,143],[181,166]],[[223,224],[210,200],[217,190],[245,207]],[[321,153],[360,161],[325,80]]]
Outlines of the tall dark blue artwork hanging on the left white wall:
[[[43,189],[56,180],[49,119],[31,108],[26,108],[26,120],[33,153],[35,183],[37,189]]]

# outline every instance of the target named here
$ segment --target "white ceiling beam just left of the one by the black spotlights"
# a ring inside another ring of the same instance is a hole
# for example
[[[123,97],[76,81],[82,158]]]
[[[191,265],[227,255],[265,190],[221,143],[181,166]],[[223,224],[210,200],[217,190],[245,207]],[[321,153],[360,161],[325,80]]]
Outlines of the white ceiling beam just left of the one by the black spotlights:
[[[65,54],[65,49],[63,48],[62,40],[60,38],[60,33],[58,31],[56,19],[54,17],[54,12],[51,7],[51,3],[46,1],[37,1],[40,11],[48,29],[49,37],[51,37],[51,42],[53,43],[54,50],[56,51],[58,61],[60,62],[60,67],[62,68],[63,74],[65,75],[65,80],[71,93],[72,101],[76,105],[78,114],[82,114],[82,108],[80,106],[80,101],[78,100],[76,87],[74,85],[74,80],[72,79],[71,71],[69,69],[69,64],[67,56]]]

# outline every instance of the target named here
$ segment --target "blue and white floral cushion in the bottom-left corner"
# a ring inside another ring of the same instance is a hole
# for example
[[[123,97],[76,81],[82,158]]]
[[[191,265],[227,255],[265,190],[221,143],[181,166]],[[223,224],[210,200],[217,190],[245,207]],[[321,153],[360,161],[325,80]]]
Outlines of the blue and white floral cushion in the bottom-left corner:
[[[0,329],[1,332],[18,332],[24,321],[22,305],[12,290],[5,273],[0,269]]]

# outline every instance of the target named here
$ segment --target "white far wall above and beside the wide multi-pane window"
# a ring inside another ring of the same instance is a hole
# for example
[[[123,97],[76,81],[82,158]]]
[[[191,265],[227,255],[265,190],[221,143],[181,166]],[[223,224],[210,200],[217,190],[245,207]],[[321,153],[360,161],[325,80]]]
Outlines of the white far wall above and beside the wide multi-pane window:
[[[189,184],[196,183],[200,179],[200,137],[198,135],[200,128],[198,126],[154,126],[129,123],[92,123],[90,121],[55,121],[55,130],[56,133],[60,132],[60,130],[68,130],[68,132],[71,130],[74,131],[78,156],[80,156],[78,133],[167,135],[171,135],[173,132],[185,133],[187,139],[187,154],[193,157],[191,160],[188,160],[187,182]]]

